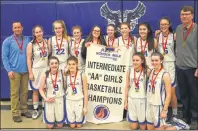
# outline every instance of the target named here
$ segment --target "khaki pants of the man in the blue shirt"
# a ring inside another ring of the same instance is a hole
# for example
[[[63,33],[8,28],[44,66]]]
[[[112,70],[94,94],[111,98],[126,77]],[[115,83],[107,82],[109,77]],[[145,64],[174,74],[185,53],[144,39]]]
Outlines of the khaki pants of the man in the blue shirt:
[[[28,99],[28,73],[16,73],[15,78],[10,79],[10,98],[11,111],[13,116],[19,113],[19,89],[20,89],[20,107],[21,113],[27,111]]]

